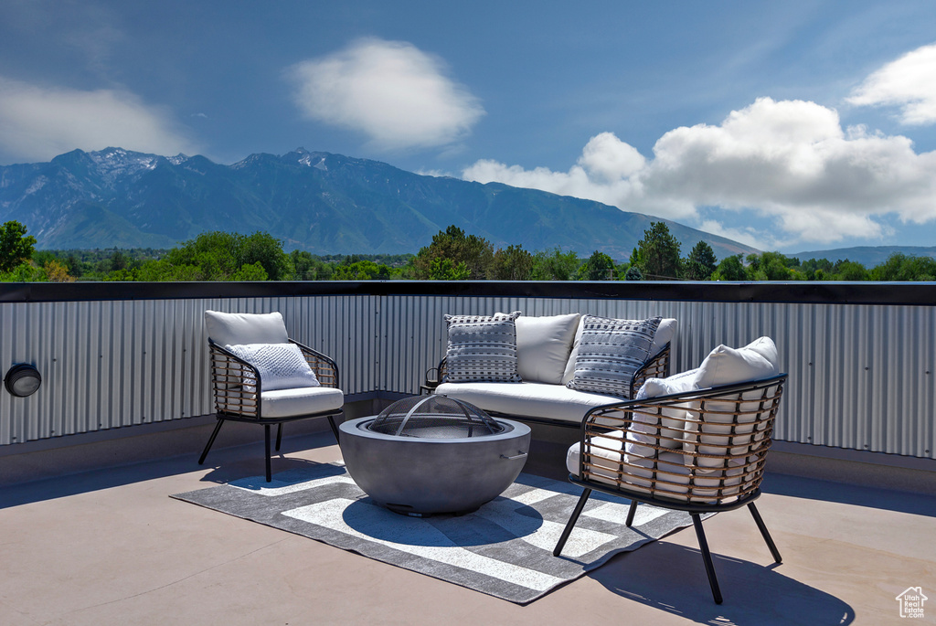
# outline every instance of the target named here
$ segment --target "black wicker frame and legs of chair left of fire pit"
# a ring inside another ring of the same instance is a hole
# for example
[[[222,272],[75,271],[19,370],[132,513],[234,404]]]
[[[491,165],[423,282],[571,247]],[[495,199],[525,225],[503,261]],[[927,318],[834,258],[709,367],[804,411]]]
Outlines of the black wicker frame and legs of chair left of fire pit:
[[[294,340],[289,340],[299,346],[302,355],[305,357],[309,366],[315,372],[318,382],[322,386],[338,387],[338,364],[330,357]],[[212,385],[214,387],[214,409],[215,417],[218,423],[212,430],[212,436],[208,439],[208,444],[198,458],[198,465],[205,462],[209,450],[212,449],[218,432],[225,421],[244,422],[249,424],[260,424],[264,430],[264,446],[266,452],[266,471],[267,482],[271,482],[271,432],[270,427],[276,425],[276,451],[279,452],[280,444],[283,441],[283,425],[287,422],[295,422],[300,419],[311,419],[313,417],[328,417],[329,426],[338,441],[338,426],[335,423],[335,417],[343,415],[343,409],[334,411],[323,411],[321,413],[289,415],[287,417],[264,417],[263,399],[259,393],[262,389],[262,380],[260,372],[256,368],[232,353],[211,339],[208,340],[210,355],[212,358]],[[243,390],[241,382],[244,378],[253,378],[256,381],[256,393]]]

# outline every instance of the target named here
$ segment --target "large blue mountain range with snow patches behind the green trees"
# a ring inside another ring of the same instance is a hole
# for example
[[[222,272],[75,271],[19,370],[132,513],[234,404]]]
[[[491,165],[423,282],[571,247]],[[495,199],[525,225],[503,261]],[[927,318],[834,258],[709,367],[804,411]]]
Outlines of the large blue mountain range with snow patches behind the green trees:
[[[495,248],[520,244],[628,258],[663,221],[687,255],[705,240],[719,258],[757,252],[737,241],[592,200],[505,184],[424,176],[386,163],[303,149],[230,166],[203,156],[75,150],[49,163],[0,167],[0,222],[37,247],[168,248],[212,230],[265,231],[318,255],[416,253],[449,225]]]

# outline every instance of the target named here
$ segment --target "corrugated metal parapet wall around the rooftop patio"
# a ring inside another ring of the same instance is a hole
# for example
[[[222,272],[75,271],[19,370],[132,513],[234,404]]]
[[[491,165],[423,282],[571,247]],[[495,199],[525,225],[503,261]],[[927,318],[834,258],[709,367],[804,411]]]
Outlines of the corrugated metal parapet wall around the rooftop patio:
[[[141,291],[136,299],[120,299],[120,291],[101,292],[101,285],[88,298],[110,298],[25,301],[41,298],[34,291],[3,298],[0,291],[3,371],[27,362],[43,376],[28,398],[0,393],[0,444],[212,413],[206,309],[280,311],[290,336],[337,360],[352,398],[373,391],[417,393],[425,371],[444,354],[445,313],[519,310],[675,317],[677,370],[696,367],[719,343],[738,346],[768,335],[790,374],[777,439],[934,458],[936,285],[921,285],[924,293],[911,292],[909,303],[895,302],[899,298],[887,292],[882,304],[828,301],[843,299],[841,291],[801,298],[818,301],[715,301],[724,300],[724,285],[712,293],[711,286],[698,284],[643,284],[646,299],[633,286],[592,297],[594,284],[551,291],[539,284],[534,291],[546,295],[534,296],[509,295],[531,291],[528,284],[340,284],[332,293],[319,284],[313,294],[284,285],[286,295],[271,295],[269,284],[262,290],[267,293],[241,295],[251,292],[250,284],[241,284],[236,297],[205,298],[191,291],[145,298]],[[51,288],[39,295],[54,293]],[[787,288],[774,285],[774,292],[763,293],[782,296]],[[872,301],[873,293],[862,288],[862,298],[848,299]],[[491,291],[495,295],[486,295]]]

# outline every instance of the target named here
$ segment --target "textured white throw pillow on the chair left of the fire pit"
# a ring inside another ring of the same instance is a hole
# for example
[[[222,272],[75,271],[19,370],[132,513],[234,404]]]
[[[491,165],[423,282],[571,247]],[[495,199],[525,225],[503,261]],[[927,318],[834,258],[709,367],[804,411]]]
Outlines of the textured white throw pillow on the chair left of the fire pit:
[[[295,343],[245,343],[226,345],[225,349],[256,368],[260,374],[261,391],[320,385],[315,372]],[[243,388],[250,392],[256,391],[253,375],[244,375]]]

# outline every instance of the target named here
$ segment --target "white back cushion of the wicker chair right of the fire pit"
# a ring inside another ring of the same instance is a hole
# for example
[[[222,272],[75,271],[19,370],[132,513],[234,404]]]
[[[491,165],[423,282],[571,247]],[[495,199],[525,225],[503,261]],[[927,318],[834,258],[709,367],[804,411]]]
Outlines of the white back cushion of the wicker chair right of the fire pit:
[[[742,348],[730,348],[726,345],[716,347],[699,366],[695,385],[700,389],[711,386],[734,385],[769,378],[779,373],[777,346],[769,337],[760,337]],[[755,411],[762,395],[762,391],[749,391],[741,394],[741,400],[757,400],[742,403],[741,409]],[[703,415],[704,422],[701,427],[697,422],[689,421],[686,423],[687,429],[701,428],[699,433],[700,445],[686,442],[683,444],[683,450],[703,455],[724,456],[726,452],[731,455],[743,455],[750,449],[750,444],[761,441],[764,434],[754,432],[753,425],[735,427],[736,436],[729,441],[728,435],[732,430],[730,425],[734,421],[734,415],[718,415],[717,412],[730,413],[735,410],[735,406],[732,401],[706,402],[706,409],[712,413]],[[742,415],[739,419],[743,424],[744,421],[753,421],[753,416]],[[742,436],[737,436],[739,434]],[[745,434],[752,436],[743,436]],[[728,448],[728,444],[732,444],[732,447]],[[732,459],[729,465],[740,465],[744,462],[744,459]],[[700,468],[721,468],[725,466],[723,459],[705,457],[698,457],[696,463]]]

